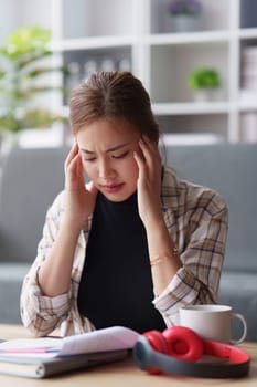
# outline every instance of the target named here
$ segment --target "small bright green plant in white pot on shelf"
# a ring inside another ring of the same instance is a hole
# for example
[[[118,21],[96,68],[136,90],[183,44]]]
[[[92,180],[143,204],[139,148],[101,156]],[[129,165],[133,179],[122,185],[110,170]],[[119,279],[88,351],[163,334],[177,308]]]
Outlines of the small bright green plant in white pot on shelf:
[[[194,92],[195,101],[216,100],[216,92],[221,85],[219,73],[212,67],[196,67],[188,77],[188,86]]]

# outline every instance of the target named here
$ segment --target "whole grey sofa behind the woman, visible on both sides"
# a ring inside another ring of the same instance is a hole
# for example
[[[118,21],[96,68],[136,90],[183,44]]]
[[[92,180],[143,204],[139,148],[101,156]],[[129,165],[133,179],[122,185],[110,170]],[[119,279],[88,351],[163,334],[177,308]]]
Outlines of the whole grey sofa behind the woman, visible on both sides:
[[[20,323],[19,297],[41,238],[47,207],[64,186],[67,148],[13,149],[1,159],[0,323]],[[247,320],[257,341],[257,144],[165,145],[164,163],[176,174],[219,191],[229,232],[219,303]],[[233,324],[238,337],[240,326]]]

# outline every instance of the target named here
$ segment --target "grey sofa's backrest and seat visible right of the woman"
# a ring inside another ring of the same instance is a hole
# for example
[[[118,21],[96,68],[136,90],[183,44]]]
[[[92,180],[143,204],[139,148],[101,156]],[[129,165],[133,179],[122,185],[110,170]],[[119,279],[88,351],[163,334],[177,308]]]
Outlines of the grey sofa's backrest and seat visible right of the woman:
[[[229,227],[218,302],[244,314],[247,339],[257,341],[257,143],[169,146],[165,158],[182,178],[224,197]],[[240,333],[234,322],[234,337]]]

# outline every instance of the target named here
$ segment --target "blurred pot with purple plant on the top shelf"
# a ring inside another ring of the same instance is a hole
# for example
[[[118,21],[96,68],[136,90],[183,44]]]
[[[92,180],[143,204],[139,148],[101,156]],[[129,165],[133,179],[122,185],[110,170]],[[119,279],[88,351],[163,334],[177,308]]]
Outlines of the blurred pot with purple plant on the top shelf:
[[[168,7],[173,32],[200,30],[202,4],[199,0],[172,0]]]

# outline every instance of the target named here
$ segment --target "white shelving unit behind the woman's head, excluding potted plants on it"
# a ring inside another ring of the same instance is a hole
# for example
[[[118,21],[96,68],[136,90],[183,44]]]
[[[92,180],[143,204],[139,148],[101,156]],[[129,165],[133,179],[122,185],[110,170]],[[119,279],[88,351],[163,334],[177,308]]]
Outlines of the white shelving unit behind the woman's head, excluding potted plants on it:
[[[97,69],[125,66],[140,77],[163,132],[247,140],[250,117],[253,140],[257,92],[243,98],[240,85],[242,52],[257,46],[257,2],[201,2],[201,27],[190,33],[172,32],[169,0],[47,0],[45,24],[53,29],[52,48],[60,57],[79,65],[78,79],[88,62]],[[186,86],[189,72],[202,65],[222,75],[222,90],[212,102],[194,102]]]

